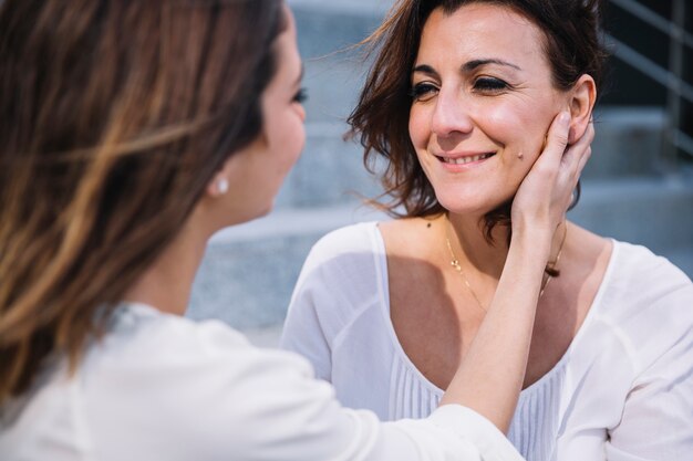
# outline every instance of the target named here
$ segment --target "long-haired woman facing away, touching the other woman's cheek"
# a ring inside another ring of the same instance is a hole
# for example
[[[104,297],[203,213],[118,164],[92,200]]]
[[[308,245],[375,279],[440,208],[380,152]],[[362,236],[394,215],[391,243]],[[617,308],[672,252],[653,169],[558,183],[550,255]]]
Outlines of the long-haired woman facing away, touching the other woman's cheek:
[[[280,0],[0,3],[3,461],[520,460],[498,428],[591,135],[552,125],[441,408],[381,423],[298,355],[182,317],[209,237],[267,213],[300,154],[300,76]]]

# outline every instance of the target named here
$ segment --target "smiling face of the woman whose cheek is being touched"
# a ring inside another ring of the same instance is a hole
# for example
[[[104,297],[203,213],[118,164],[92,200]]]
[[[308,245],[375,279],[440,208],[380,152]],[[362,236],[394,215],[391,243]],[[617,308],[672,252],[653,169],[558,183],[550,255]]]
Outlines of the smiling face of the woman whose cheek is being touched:
[[[510,199],[567,96],[551,83],[541,31],[472,3],[426,21],[412,73],[410,136],[441,205],[485,214]]]

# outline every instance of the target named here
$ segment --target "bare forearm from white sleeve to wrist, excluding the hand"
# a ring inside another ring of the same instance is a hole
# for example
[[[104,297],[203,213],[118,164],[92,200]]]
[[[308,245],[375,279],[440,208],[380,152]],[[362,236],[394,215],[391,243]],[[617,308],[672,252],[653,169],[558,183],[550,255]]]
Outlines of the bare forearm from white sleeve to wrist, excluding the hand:
[[[441,405],[459,404],[507,431],[523,387],[549,232],[515,234],[496,294]]]

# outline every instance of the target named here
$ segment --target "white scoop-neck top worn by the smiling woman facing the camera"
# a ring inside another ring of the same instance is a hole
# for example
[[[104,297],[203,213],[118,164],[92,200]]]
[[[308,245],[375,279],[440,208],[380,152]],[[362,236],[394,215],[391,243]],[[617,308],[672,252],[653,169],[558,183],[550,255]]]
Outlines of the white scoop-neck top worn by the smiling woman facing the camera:
[[[306,261],[282,346],[306,356],[344,406],[423,418],[443,390],[405,355],[389,303],[376,223],[337,230]],[[614,242],[585,323],[521,392],[508,437],[527,460],[693,460],[691,281],[645,248]]]

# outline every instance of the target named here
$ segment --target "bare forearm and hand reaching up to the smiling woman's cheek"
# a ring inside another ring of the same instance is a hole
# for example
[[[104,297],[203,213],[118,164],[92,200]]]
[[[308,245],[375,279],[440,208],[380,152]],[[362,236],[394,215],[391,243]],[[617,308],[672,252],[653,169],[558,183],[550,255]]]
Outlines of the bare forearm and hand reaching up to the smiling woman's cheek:
[[[568,147],[569,119],[567,112],[554,119],[544,151],[515,195],[513,239],[496,294],[441,401],[469,407],[504,432],[525,380],[551,240],[591,154],[593,127]]]

